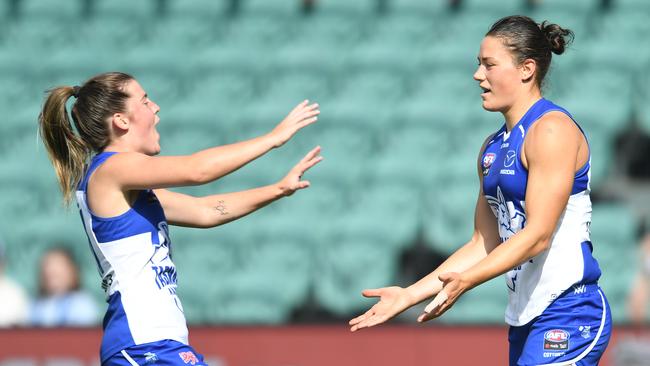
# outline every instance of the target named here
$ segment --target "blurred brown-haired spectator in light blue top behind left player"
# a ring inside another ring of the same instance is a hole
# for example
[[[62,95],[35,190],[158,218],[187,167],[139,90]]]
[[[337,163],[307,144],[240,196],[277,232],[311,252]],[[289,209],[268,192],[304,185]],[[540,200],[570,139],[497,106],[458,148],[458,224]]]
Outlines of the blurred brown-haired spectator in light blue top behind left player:
[[[99,309],[81,290],[79,268],[64,248],[48,250],[41,259],[39,297],[30,309],[33,326],[87,327],[99,323]]]

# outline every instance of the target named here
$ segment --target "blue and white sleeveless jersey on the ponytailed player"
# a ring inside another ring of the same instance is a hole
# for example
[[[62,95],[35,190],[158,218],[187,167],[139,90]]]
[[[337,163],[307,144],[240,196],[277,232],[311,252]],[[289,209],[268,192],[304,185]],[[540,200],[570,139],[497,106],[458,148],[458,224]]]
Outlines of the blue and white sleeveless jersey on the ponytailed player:
[[[108,302],[102,362],[143,343],[171,339],[187,344],[185,316],[176,296],[169,230],[156,195],[151,190],[140,191],[132,207],[115,217],[98,217],[88,207],[88,180],[114,154],[97,154],[76,192]]]

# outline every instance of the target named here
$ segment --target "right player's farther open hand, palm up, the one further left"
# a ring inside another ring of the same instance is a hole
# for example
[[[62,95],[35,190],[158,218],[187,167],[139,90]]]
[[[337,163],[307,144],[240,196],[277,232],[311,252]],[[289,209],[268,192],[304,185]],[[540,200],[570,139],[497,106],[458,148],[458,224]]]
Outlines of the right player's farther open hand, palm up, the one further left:
[[[363,290],[365,297],[378,297],[379,301],[362,315],[350,320],[350,331],[385,323],[414,305],[413,297],[402,287],[391,286]]]

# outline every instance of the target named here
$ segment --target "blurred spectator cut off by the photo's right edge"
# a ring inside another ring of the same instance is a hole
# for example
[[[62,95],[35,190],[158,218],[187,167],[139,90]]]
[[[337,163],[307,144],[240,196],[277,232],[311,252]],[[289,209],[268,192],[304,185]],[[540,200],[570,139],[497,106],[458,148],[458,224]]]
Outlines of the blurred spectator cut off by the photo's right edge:
[[[639,246],[639,270],[632,284],[628,308],[633,324],[648,323],[647,308],[650,295],[650,232],[646,231]]]

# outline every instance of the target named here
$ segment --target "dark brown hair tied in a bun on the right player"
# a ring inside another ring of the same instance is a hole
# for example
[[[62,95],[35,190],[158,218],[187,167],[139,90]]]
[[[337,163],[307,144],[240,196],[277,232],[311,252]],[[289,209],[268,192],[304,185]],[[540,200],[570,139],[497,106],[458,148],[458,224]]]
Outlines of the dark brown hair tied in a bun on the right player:
[[[500,38],[510,49],[517,64],[526,59],[535,60],[535,81],[539,87],[551,65],[551,52],[561,55],[574,37],[569,29],[547,21],[537,24],[533,19],[522,15],[499,19],[485,35]]]

